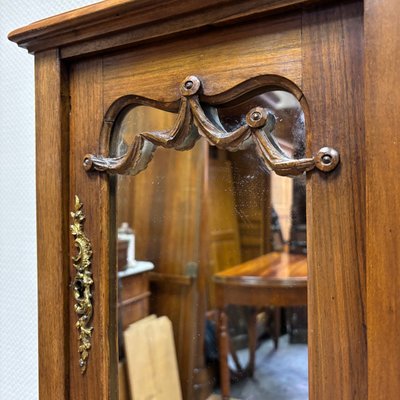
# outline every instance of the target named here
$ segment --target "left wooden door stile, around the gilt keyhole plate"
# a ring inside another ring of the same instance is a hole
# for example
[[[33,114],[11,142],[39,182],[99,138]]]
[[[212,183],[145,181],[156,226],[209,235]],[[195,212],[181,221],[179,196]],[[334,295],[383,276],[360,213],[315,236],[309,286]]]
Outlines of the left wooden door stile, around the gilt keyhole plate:
[[[109,246],[115,243],[115,213],[110,210],[109,177],[88,174],[82,160],[88,152],[98,152],[102,125],[103,92],[102,62],[90,60],[71,67],[71,140],[70,204],[76,194],[86,215],[84,229],[92,242],[93,334],[88,367],[81,375],[78,357],[77,330],[70,331],[70,398],[71,400],[116,399],[117,320],[116,259],[110,259]],[[72,206],[70,206],[72,209]],[[111,240],[111,238],[114,238]],[[72,240],[71,240],[72,242]],[[71,243],[71,252],[75,252]],[[116,258],[116,257],[115,257]],[[71,279],[75,271],[70,267]],[[70,323],[76,315],[70,296]]]

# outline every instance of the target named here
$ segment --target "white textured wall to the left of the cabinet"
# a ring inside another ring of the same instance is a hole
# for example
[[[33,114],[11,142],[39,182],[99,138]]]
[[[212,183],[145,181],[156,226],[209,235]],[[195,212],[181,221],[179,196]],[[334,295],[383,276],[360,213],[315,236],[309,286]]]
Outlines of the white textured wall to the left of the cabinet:
[[[94,2],[0,0],[0,399],[4,400],[38,398],[33,56],[9,42],[7,34]]]

